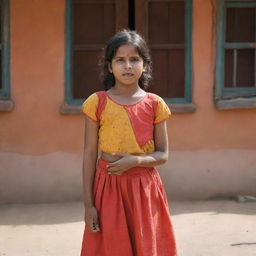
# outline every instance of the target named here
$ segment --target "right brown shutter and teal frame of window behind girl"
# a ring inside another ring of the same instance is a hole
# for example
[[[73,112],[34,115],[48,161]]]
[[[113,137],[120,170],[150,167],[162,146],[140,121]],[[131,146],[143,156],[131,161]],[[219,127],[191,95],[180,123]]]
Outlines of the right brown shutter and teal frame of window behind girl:
[[[151,50],[152,91],[167,102],[190,103],[192,1],[146,2],[145,18],[137,27],[144,31]]]

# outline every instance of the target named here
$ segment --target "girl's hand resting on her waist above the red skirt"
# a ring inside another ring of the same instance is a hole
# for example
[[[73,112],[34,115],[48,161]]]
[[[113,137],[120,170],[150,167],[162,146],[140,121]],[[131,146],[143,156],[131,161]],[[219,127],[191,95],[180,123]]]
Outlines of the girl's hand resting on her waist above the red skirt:
[[[108,174],[111,175],[122,175],[123,172],[126,170],[137,166],[138,164],[138,156],[129,155],[129,154],[121,154],[121,153],[115,153],[113,154],[115,156],[120,156],[121,159],[109,163],[107,165],[108,168]]]

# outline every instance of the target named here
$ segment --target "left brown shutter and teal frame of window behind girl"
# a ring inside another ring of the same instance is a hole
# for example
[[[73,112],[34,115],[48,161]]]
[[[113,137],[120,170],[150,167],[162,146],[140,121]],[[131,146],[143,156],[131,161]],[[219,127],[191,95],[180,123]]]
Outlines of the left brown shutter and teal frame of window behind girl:
[[[79,106],[85,95],[102,88],[97,62],[105,41],[115,33],[123,1],[66,0],[66,105]]]

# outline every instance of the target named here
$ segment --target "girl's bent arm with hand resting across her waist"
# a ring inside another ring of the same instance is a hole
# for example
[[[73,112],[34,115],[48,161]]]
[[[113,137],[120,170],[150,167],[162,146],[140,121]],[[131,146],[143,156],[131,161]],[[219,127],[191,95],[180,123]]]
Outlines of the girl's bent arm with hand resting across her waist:
[[[120,160],[110,163],[108,166],[109,174],[120,175],[129,168],[154,167],[162,165],[168,160],[168,134],[166,121],[155,124],[154,127],[155,152],[143,156],[129,154],[115,154],[121,156]]]

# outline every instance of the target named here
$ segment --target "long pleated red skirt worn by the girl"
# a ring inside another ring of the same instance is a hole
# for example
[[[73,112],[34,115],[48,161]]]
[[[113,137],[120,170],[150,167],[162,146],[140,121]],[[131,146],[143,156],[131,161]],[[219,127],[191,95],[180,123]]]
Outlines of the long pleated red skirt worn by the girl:
[[[94,205],[99,232],[84,228],[81,256],[177,256],[166,193],[155,168],[110,175],[99,159]]]

